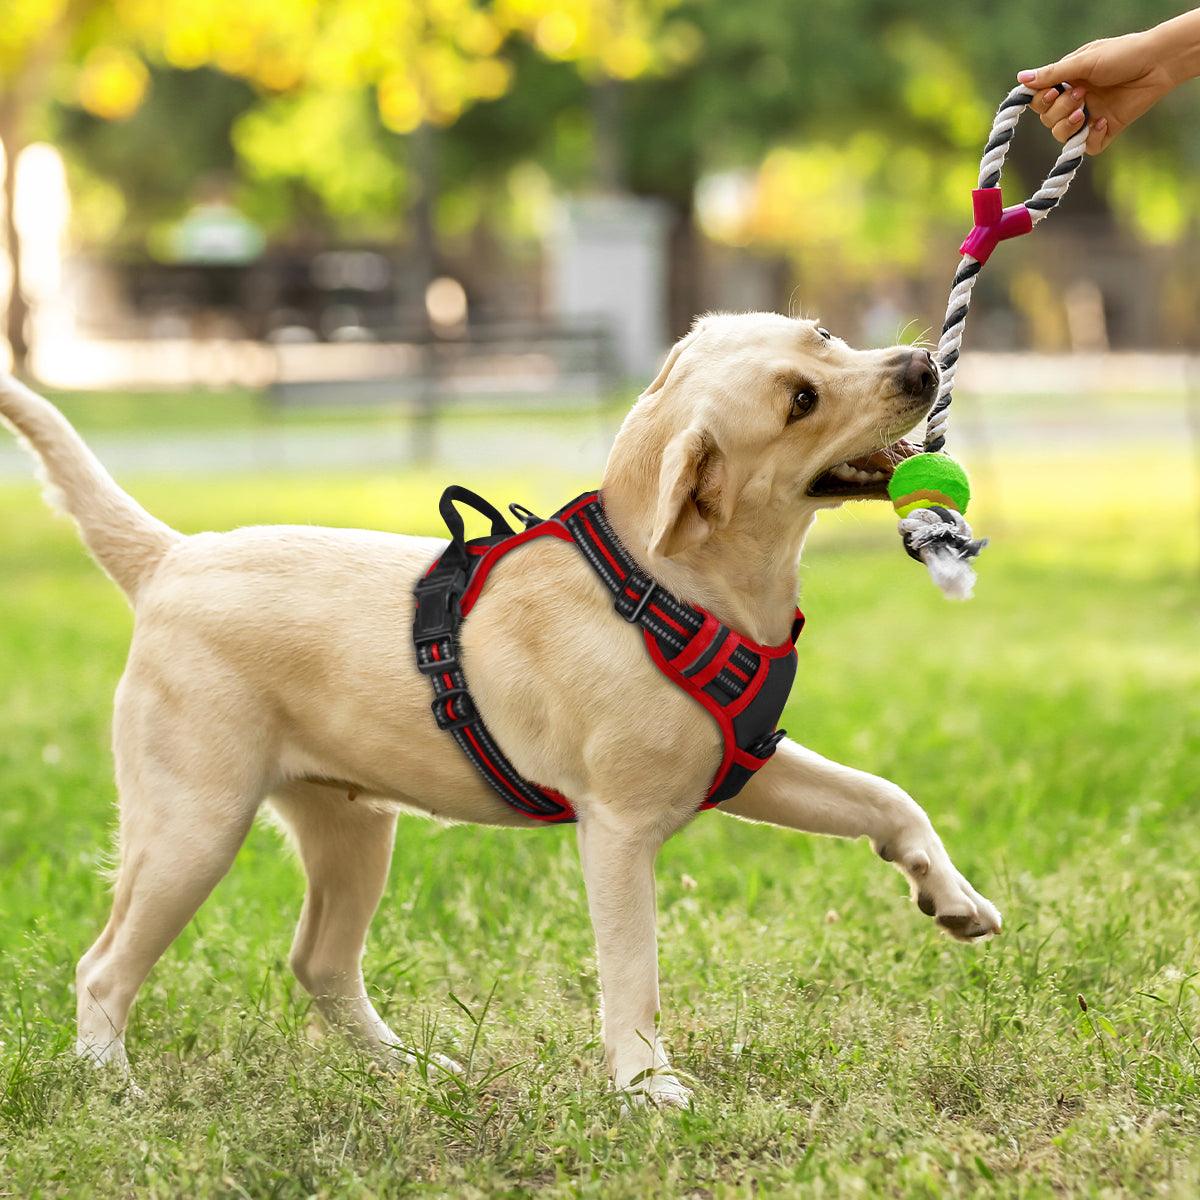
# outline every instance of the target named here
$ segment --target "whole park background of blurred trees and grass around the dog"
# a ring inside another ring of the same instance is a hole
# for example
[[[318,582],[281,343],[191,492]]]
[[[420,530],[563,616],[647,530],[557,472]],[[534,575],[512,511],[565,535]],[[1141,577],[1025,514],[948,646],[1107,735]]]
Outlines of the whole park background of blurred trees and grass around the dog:
[[[0,0],[2,353],[188,532],[437,533],[450,481],[546,510],[698,312],[936,330],[1015,72],[1174,12]],[[74,1066],[130,616],[0,442],[0,1194],[1195,1195],[1198,119],[1200,84],[988,264],[977,598],[877,505],[805,556],[784,724],[913,792],[1004,936],[937,938],[865,846],[706,816],[659,888],[694,1112],[606,1092],[570,833],[415,818],[365,970],[463,1081],[320,1037],[265,824],[143,989],[146,1100]],[[1027,119],[1009,202],[1055,150]]]

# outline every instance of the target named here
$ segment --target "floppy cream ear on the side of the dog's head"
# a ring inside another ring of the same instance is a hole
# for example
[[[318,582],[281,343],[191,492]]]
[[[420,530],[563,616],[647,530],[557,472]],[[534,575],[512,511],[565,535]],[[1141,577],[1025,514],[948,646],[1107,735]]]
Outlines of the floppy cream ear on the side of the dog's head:
[[[650,553],[671,558],[698,546],[728,523],[731,509],[720,446],[707,430],[685,430],[662,455]]]

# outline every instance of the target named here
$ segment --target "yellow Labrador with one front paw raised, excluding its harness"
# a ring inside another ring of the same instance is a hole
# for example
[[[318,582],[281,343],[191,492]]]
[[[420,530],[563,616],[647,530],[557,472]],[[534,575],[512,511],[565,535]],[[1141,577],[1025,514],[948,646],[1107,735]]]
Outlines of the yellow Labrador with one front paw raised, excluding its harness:
[[[925,350],[854,350],[811,320],[770,313],[706,317],[616,439],[602,485],[611,524],[677,596],[781,643],[816,514],[886,494],[906,452],[898,439],[935,388]],[[52,404],[4,377],[0,416],[40,457],[53,498],[136,613],[113,728],[120,869],[108,924],[78,966],[78,1051],[126,1069],[138,988],[266,802],[307,874],[296,976],[330,1022],[403,1061],[360,966],[398,809],[527,823],[437,728],[414,666],[413,584],[445,544],[308,527],[184,536],[121,491]],[[660,674],[580,552],[554,538],[497,565],[462,655],[514,766],[578,812],[614,1084],[686,1104],[656,1027],[653,870],[718,768],[716,725]],[[1000,930],[922,809],[883,779],[785,740],[724,808],[866,836],[950,934]]]

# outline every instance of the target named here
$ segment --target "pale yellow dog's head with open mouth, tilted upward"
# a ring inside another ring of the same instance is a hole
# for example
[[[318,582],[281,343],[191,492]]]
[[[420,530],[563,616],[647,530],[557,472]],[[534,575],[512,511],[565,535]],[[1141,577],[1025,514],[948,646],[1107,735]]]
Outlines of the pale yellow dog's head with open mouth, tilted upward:
[[[856,350],[815,320],[704,317],[626,420],[606,486],[656,470],[646,532],[659,558],[731,524],[806,528],[818,508],[887,498],[937,378],[928,350]]]

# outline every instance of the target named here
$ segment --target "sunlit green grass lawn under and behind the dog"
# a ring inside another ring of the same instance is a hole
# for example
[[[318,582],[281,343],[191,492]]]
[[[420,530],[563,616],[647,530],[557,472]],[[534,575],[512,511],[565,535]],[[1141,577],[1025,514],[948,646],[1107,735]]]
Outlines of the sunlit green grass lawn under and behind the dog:
[[[148,1099],[71,1060],[73,964],[107,911],[130,618],[34,488],[0,488],[0,1194],[1196,1195],[1188,470],[1186,448],[1006,462],[982,488],[995,541],[966,606],[904,558],[886,512],[822,522],[785,724],[912,791],[1007,930],[956,946],[865,845],[706,815],[659,869],[665,1031],[696,1108],[624,1120],[563,829],[402,818],[368,986],[413,1043],[474,1046],[463,1084],[384,1076],[319,1036],[286,964],[300,874],[265,826],[142,992]],[[439,482],[134,491],[185,529],[433,532]],[[545,509],[586,481],[472,482]]]

